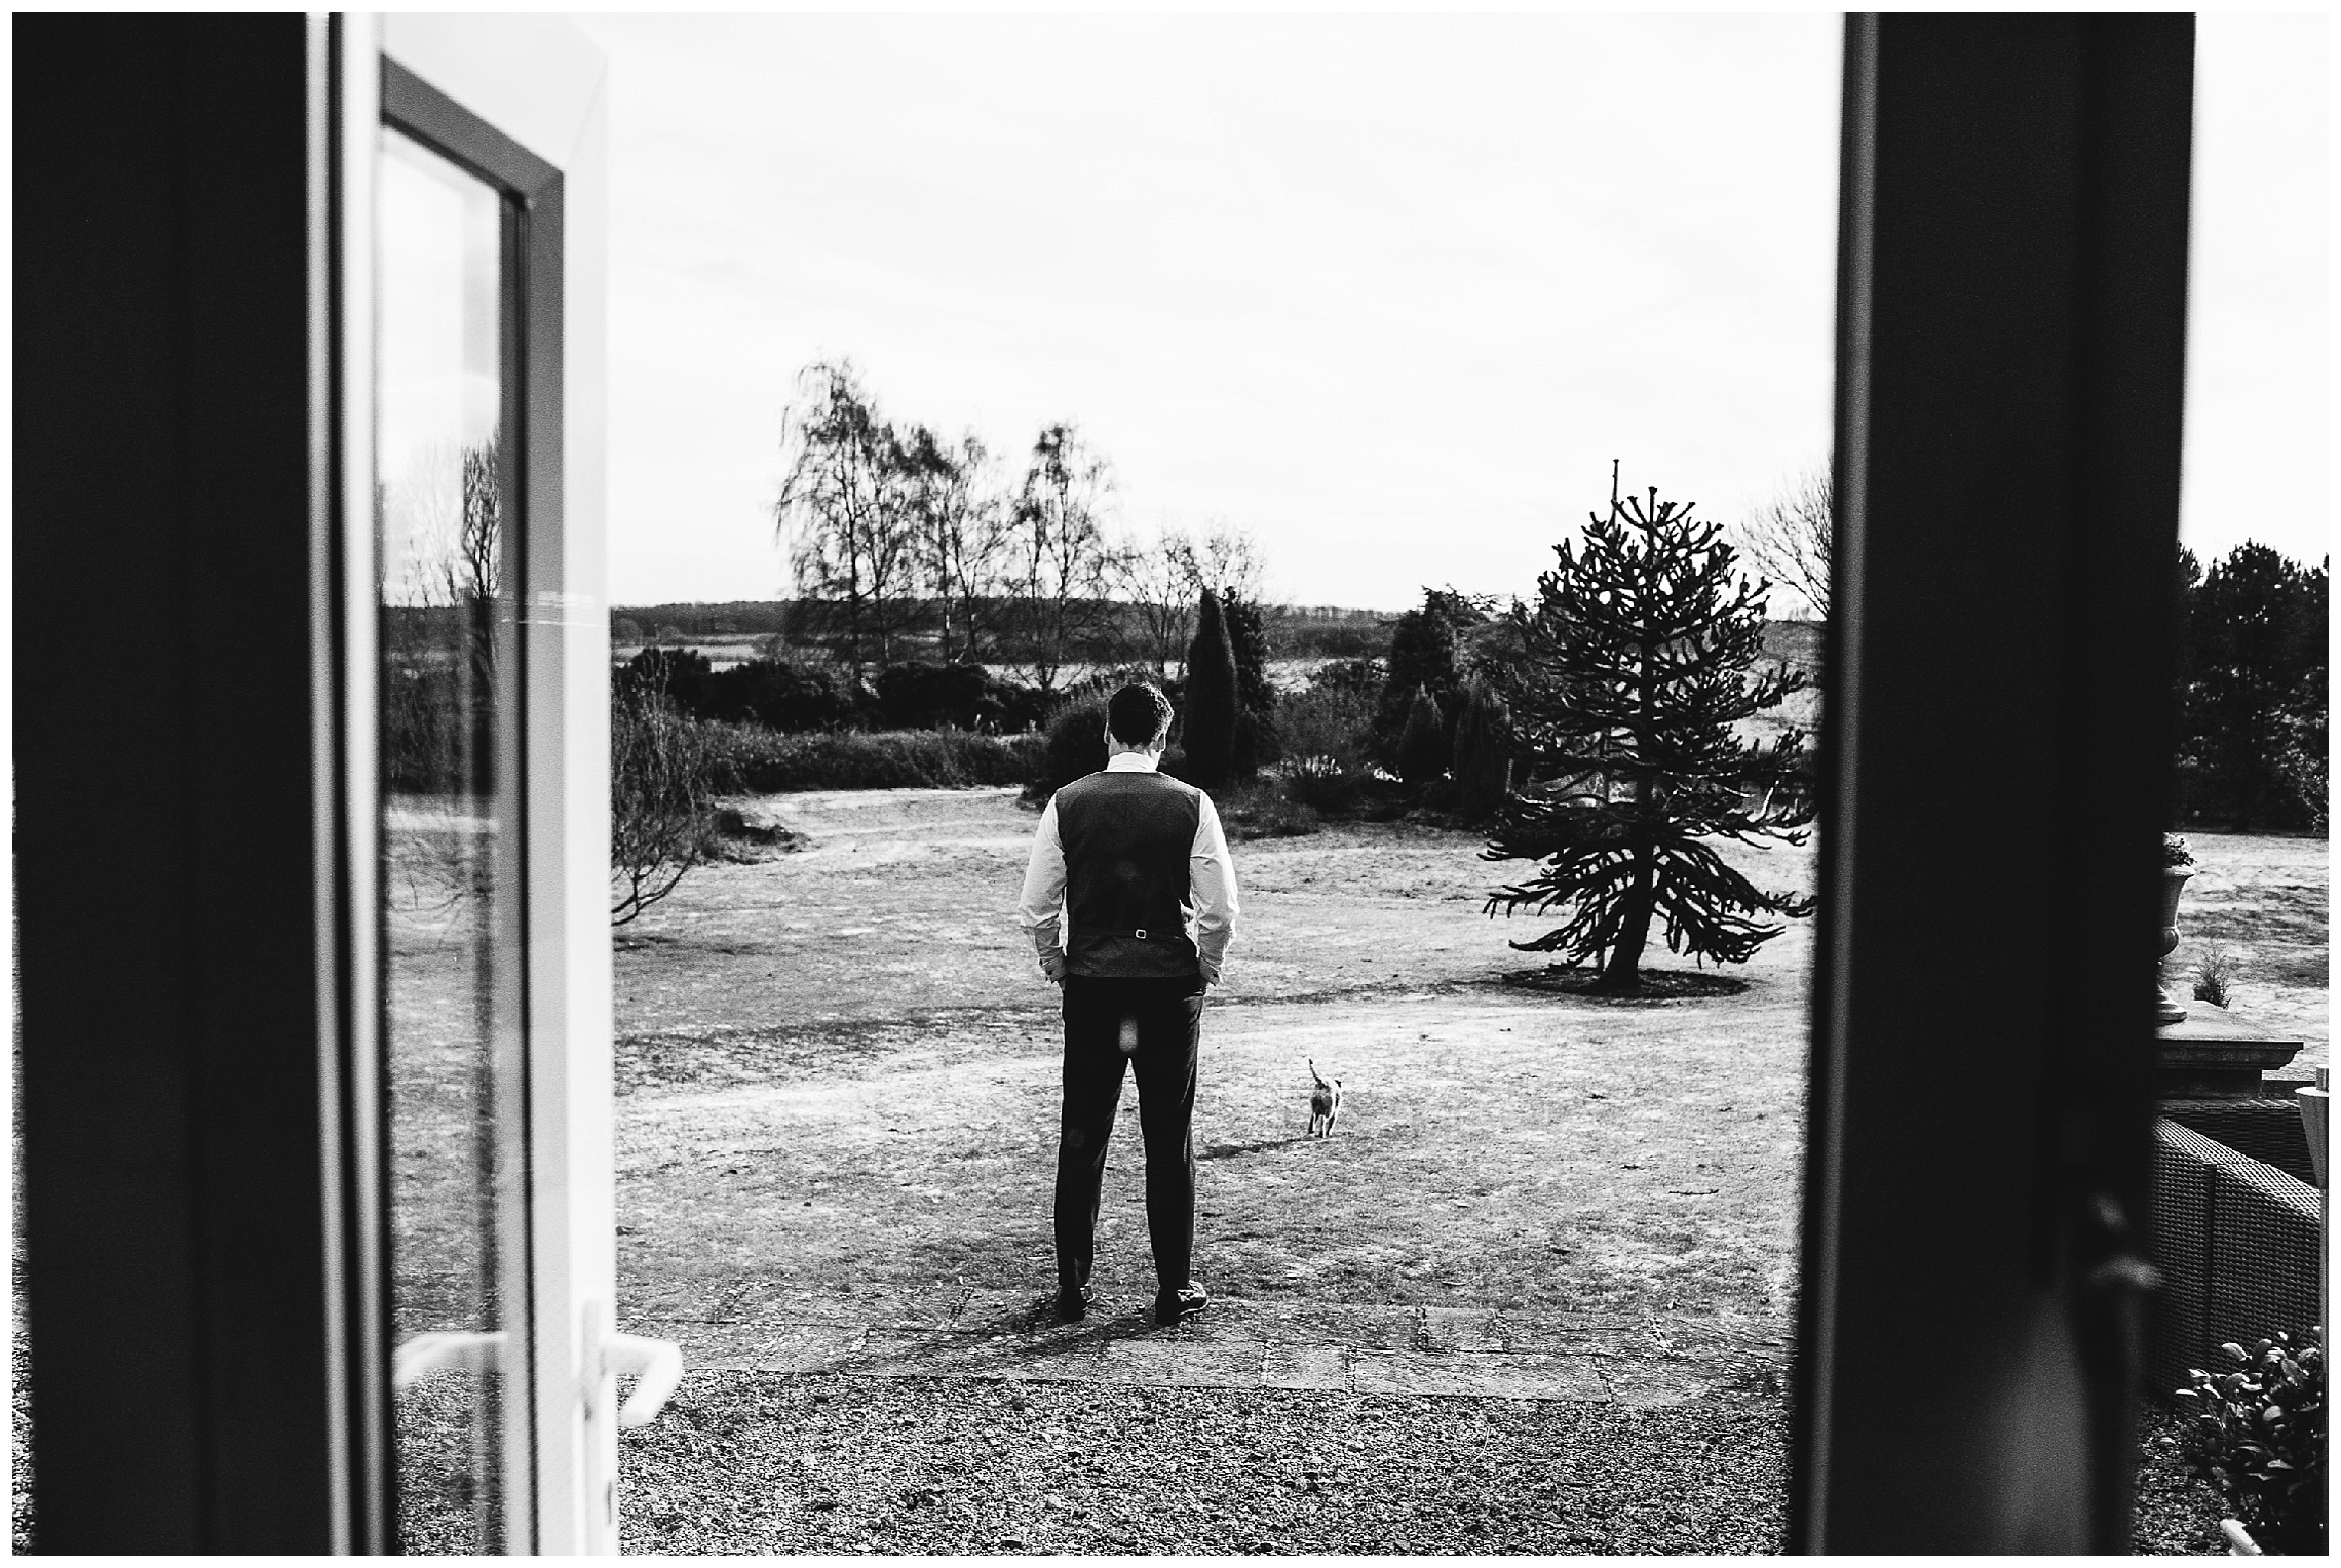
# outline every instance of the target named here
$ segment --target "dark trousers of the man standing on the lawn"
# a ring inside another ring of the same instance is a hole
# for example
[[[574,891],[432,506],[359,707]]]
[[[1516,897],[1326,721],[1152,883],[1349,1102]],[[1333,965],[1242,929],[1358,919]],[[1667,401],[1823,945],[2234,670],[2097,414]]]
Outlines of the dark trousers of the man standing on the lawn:
[[[1138,1051],[1121,1053],[1121,1023]],[[1203,981],[1100,981],[1065,976],[1065,1112],[1056,1144],[1056,1275],[1089,1285],[1098,1257],[1105,1144],[1121,1105],[1121,1065],[1138,1079],[1138,1130],[1147,1142],[1147,1233],[1154,1280],[1178,1290],[1194,1261],[1194,1079],[1203,1039]]]

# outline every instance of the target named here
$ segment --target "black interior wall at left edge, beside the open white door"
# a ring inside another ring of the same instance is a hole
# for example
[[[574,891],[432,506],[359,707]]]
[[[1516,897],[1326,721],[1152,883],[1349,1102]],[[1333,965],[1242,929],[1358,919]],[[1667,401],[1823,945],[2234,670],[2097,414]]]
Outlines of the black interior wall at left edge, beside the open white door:
[[[37,1545],[316,1552],[307,33],[12,26]]]

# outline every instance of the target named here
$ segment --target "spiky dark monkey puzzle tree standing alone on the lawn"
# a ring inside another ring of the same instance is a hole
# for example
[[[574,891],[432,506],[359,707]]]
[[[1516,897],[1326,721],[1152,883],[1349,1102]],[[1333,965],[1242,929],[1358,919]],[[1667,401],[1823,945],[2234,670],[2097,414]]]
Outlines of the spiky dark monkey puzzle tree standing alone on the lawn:
[[[1618,496],[1583,548],[1536,583],[1512,618],[1526,658],[1512,688],[1512,730],[1545,786],[1505,803],[1482,859],[1543,861],[1536,878],[1487,901],[1510,915],[1568,906],[1568,920],[1522,953],[1594,960],[1599,995],[1636,995],[1650,922],[1667,948],[1742,964],[1803,917],[1803,894],[1760,892],[1714,843],[1805,843],[1814,817],[1798,784],[1805,733],[1770,747],[1735,725],[1803,690],[1796,669],[1751,674],[1763,655],[1770,583],[1737,583],[1735,552],[1690,506]]]

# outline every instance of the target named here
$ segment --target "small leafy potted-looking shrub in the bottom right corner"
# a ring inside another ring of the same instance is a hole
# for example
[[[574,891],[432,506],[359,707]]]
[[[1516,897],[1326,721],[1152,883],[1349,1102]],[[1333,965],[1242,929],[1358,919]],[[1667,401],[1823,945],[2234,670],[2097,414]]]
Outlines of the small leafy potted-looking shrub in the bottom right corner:
[[[2325,1554],[2325,1336],[2219,1350],[2236,1371],[2177,1390],[2186,1465],[2219,1488],[2268,1552]]]

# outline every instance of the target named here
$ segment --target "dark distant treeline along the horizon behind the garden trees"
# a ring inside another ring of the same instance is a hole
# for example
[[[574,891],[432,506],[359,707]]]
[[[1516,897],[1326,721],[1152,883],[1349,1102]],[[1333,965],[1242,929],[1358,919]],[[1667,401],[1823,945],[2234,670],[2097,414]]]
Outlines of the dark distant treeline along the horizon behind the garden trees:
[[[927,606],[927,615],[906,615],[913,625],[939,625],[941,606]],[[993,625],[1011,625],[1007,601],[990,606]],[[1089,604],[1082,625],[1089,632],[1075,644],[1075,658],[1096,665],[1124,660],[1135,646],[1147,641],[1145,606],[1100,599]],[[1259,618],[1276,646],[1276,658],[1384,658],[1391,648],[1391,627],[1398,611],[1355,611],[1334,604],[1262,604]],[[822,599],[735,599],[730,604],[630,604],[611,611],[609,637],[623,648],[641,648],[653,641],[712,641],[726,637],[780,639],[770,653],[796,651],[843,651],[850,641],[838,606]],[[929,646],[920,646],[927,641]],[[906,637],[904,653],[936,658],[939,639]],[[1002,632],[986,655],[990,662],[1016,665],[1035,653],[1018,644],[1014,632]]]

